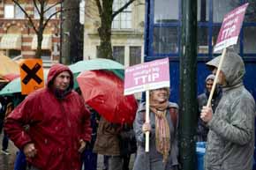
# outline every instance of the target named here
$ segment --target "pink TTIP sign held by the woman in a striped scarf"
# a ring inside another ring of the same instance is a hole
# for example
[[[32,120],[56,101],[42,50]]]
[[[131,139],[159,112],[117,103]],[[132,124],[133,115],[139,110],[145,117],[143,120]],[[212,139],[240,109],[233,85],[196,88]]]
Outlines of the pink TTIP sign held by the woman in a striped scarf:
[[[125,69],[124,95],[168,86],[168,58],[140,63]]]

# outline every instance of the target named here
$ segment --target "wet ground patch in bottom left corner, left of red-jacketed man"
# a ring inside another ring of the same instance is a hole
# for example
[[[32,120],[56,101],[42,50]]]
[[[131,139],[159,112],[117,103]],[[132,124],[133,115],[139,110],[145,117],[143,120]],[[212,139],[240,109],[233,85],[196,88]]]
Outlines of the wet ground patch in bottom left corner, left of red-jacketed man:
[[[2,140],[3,134],[0,135],[0,148],[2,150]],[[10,155],[5,155],[4,153],[0,152],[0,169],[1,170],[13,170],[14,160],[17,152],[16,146],[9,141],[8,151],[11,153]]]

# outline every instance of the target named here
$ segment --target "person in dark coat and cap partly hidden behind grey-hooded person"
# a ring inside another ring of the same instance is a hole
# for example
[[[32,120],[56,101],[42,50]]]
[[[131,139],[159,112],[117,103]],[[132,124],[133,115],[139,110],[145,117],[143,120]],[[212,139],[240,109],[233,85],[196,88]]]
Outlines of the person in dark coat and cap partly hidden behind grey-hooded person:
[[[205,85],[206,89],[205,92],[201,93],[198,96],[198,107],[199,107],[199,121],[198,121],[198,127],[197,127],[197,141],[198,142],[206,142],[207,141],[207,134],[209,129],[207,128],[207,125],[205,122],[203,122],[200,119],[200,112],[203,106],[207,105],[207,100],[209,98],[210,92],[212,90],[212,86],[215,81],[215,75],[210,74],[207,76]],[[222,90],[219,85],[216,85],[214,96],[211,100],[211,106],[215,112],[215,108],[218,106],[219,101],[222,98]]]

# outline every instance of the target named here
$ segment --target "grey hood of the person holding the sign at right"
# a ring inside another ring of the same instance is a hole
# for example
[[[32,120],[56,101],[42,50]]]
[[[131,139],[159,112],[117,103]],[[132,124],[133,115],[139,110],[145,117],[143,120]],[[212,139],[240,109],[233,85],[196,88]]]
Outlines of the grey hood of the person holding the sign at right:
[[[207,63],[209,68],[218,68],[222,55],[215,57],[213,60]],[[234,85],[241,84],[243,82],[243,77],[245,75],[245,63],[240,55],[234,52],[232,48],[228,48],[226,55],[224,56],[222,63],[222,72],[225,75],[227,85],[226,87],[231,87]]]

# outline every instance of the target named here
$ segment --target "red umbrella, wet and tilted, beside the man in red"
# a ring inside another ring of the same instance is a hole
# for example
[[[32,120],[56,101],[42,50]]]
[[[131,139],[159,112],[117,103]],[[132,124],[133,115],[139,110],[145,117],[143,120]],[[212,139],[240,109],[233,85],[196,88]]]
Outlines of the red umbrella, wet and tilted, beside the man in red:
[[[137,111],[134,95],[124,96],[124,81],[108,70],[79,74],[79,87],[87,105],[109,122],[132,123]]]

